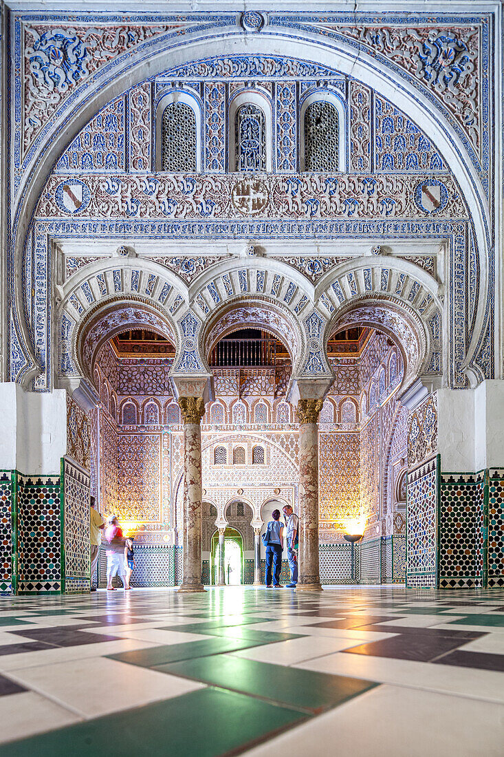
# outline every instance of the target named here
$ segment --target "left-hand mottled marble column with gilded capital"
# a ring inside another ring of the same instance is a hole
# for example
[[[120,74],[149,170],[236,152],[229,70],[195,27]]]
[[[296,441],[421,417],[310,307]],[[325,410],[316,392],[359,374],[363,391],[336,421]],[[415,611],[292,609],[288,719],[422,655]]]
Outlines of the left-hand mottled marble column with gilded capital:
[[[184,419],[184,575],[180,592],[204,591],[201,583],[201,418],[203,397],[179,397]]]

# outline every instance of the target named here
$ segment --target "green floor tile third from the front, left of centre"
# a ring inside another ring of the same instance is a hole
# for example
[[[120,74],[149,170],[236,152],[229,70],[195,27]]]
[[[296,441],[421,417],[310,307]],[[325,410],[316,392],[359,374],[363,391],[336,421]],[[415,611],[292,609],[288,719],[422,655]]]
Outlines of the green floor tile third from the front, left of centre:
[[[267,642],[262,642],[267,643]],[[188,641],[181,644],[167,644],[166,646],[152,646],[148,650],[134,650],[121,652],[117,655],[107,655],[110,659],[129,662],[131,665],[141,665],[142,668],[153,668],[166,662],[207,657],[225,652],[247,650],[251,646],[260,646],[259,640],[232,639],[229,637],[215,637],[201,641]]]

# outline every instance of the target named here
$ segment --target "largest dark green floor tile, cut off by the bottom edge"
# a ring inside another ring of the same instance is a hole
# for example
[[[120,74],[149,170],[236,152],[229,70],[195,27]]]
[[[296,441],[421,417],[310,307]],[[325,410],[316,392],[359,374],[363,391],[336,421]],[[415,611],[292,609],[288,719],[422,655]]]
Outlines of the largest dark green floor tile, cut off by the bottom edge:
[[[0,746],[0,757],[217,757],[306,718],[250,696],[204,689]]]

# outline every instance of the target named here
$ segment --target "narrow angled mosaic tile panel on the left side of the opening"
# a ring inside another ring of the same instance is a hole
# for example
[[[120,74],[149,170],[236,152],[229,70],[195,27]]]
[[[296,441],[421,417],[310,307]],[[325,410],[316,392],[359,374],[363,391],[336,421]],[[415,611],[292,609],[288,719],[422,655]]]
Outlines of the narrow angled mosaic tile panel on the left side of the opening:
[[[63,590],[69,591],[70,587],[73,591],[89,590],[89,473],[64,458],[61,480],[64,491]]]

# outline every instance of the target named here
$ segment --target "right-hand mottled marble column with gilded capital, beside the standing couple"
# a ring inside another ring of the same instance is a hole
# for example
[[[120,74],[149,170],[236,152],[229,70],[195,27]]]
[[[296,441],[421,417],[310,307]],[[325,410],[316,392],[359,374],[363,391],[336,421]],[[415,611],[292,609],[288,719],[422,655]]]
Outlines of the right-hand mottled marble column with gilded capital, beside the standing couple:
[[[300,399],[299,576],[297,590],[321,591],[319,577],[319,428],[322,400]]]

